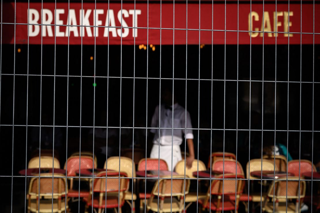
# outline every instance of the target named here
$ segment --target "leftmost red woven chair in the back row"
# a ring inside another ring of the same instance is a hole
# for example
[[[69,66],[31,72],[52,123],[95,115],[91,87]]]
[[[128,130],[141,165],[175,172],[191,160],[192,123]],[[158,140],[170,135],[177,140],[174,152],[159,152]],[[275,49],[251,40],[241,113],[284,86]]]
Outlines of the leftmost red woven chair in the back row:
[[[67,170],[67,176],[68,177],[76,177],[76,171],[80,169],[92,169],[93,165],[93,158],[92,156],[71,156],[67,159],[66,164],[64,164],[64,169]],[[97,168],[97,165],[94,164],[94,168]],[[68,192],[69,198],[84,198],[88,197],[89,191],[80,190],[74,190],[73,188],[73,178],[70,179],[70,189]]]

